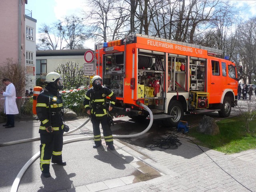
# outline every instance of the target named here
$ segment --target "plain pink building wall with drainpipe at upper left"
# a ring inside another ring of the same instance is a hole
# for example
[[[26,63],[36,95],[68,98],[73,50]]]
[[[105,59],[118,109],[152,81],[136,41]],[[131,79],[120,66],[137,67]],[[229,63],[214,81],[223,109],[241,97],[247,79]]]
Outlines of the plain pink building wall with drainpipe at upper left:
[[[27,0],[0,0],[0,65],[13,58],[25,66],[25,3]]]

